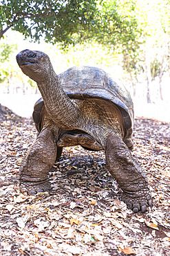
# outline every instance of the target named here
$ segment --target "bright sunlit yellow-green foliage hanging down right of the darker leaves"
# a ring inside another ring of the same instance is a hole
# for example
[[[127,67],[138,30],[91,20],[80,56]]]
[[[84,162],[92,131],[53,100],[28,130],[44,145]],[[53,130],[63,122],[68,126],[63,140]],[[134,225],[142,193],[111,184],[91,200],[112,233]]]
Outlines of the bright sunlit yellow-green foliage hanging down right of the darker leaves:
[[[111,58],[119,55],[125,71],[131,73],[132,80],[140,68],[140,45],[145,43],[145,38],[141,37],[143,27],[138,21],[136,1],[107,0],[98,6],[98,10],[98,23],[94,24],[95,41],[107,48]],[[93,35],[87,32],[86,38],[90,37]]]

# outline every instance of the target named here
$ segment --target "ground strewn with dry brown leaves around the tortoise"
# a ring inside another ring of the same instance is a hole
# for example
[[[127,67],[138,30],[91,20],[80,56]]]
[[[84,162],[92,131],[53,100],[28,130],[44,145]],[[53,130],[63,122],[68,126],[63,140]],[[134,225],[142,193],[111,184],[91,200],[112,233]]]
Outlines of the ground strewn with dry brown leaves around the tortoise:
[[[0,255],[169,255],[169,123],[135,120],[133,154],[147,172],[153,208],[134,214],[118,200],[104,152],[81,147],[64,149],[50,192],[21,194],[19,165],[36,129],[31,119],[0,112]]]

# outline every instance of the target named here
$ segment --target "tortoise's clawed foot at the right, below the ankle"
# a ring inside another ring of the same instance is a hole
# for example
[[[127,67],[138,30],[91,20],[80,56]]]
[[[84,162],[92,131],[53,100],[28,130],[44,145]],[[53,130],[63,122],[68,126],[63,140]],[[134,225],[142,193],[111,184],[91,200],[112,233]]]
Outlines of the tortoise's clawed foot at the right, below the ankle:
[[[135,213],[139,211],[142,213],[146,212],[147,208],[152,204],[151,192],[149,190],[125,191],[120,197],[127,204],[127,208]]]

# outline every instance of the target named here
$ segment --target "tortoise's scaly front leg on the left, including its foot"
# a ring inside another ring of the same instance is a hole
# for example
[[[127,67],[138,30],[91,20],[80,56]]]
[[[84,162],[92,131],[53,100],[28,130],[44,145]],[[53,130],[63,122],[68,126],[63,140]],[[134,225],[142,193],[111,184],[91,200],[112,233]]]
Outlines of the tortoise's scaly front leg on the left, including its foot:
[[[19,171],[20,190],[23,194],[36,194],[50,190],[47,173],[56,161],[57,147],[54,134],[47,127],[36,138]]]

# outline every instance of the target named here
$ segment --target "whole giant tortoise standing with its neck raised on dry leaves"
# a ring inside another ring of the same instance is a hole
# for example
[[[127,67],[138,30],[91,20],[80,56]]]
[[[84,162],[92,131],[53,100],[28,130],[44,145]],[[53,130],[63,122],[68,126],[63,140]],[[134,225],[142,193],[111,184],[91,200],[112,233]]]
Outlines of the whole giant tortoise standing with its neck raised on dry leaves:
[[[76,66],[56,75],[50,58],[41,51],[21,51],[17,62],[37,83],[43,98],[34,106],[39,136],[21,163],[21,192],[50,190],[47,172],[62,148],[81,145],[105,150],[106,167],[123,190],[121,199],[134,212],[145,212],[151,205],[151,192],[142,167],[129,150],[134,109],[125,87],[92,66]]]

